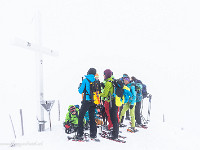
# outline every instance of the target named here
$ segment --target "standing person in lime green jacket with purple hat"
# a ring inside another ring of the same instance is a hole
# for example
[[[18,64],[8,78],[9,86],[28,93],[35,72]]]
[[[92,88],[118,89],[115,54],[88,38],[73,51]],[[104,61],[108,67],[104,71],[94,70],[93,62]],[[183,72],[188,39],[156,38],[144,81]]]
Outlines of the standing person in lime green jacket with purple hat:
[[[105,105],[105,109],[109,111],[109,113],[107,113],[108,111],[106,110],[106,113],[107,115],[110,115],[110,120],[113,124],[112,136],[110,138],[117,139],[118,134],[119,134],[119,123],[118,123],[118,118],[117,118],[118,107],[116,106],[115,100],[113,97],[114,88],[112,84],[112,81],[113,81],[113,78],[111,77],[112,74],[113,73],[110,69],[106,69],[104,71],[104,80],[106,81],[106,83],[105,83],[104,90],[100,94],[100,96],[106,98],[105,104],[107,103],[109,106],[108,108],[108,106]]]

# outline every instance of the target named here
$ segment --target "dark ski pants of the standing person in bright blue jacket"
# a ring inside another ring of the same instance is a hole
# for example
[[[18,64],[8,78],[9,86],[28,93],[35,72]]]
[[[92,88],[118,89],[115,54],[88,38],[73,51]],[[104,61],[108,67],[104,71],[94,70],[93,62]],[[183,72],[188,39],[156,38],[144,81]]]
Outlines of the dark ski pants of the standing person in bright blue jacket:
[[[89,111],[89,119],[90,119],[90,136],[95,137],[97,134],[97,127],[95,122],[95,108],[96,105],[87,100],[83,100],[81,109],[79,111],[78,117],[78,136],[83,136],[83,119],[87,111]]]

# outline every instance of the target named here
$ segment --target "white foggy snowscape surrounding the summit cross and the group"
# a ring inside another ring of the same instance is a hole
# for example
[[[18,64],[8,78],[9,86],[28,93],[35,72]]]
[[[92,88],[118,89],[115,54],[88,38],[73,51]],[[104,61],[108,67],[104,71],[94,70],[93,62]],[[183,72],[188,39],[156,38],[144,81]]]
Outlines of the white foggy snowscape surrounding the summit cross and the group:
[[[37,132],[35,53],[10,44],[15,36],[36,42],[36,10],[42,15],[43,46],[59,51],[59,57],[43,57],[44,99],[56,101],[52,131],[47,122],[42,133]],[[12,141],[22,144],[13,149],[199,149],[199,13],[198,2],[186,0],[0,1],[0,149],[10,149]],[[66,140],[62,121],[70,104],[80,104],[77,87],[90,67],[101,81],[110,68],[116,78],[127,73],[147,85],[153,95],[148,130],[124,131],[126,144]]]

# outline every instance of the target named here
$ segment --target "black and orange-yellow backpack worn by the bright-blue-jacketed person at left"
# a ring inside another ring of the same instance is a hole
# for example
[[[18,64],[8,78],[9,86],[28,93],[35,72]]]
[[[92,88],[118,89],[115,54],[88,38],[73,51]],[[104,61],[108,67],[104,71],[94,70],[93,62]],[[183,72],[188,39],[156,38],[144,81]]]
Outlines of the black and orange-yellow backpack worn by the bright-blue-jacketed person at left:
[[[86,78],[90,83],[90,99],[95,104],[100,104],[100,97],[99,97],[99,89],[98,89],[98,82],[95,80],[91,82],[88,78]]]

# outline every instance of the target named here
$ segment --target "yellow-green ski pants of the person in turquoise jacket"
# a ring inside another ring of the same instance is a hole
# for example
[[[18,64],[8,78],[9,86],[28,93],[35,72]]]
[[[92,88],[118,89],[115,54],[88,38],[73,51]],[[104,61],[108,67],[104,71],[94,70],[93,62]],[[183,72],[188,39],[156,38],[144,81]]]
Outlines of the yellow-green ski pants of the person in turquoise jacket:
[[[126,111],[130,109],[130,103],[126,103],[121,111],[120,115],[120,122],[122,117],[125,115]],[[130,109],[130,115],[131,115],[131,127],[135,127],[135,104],[132,109]]]

